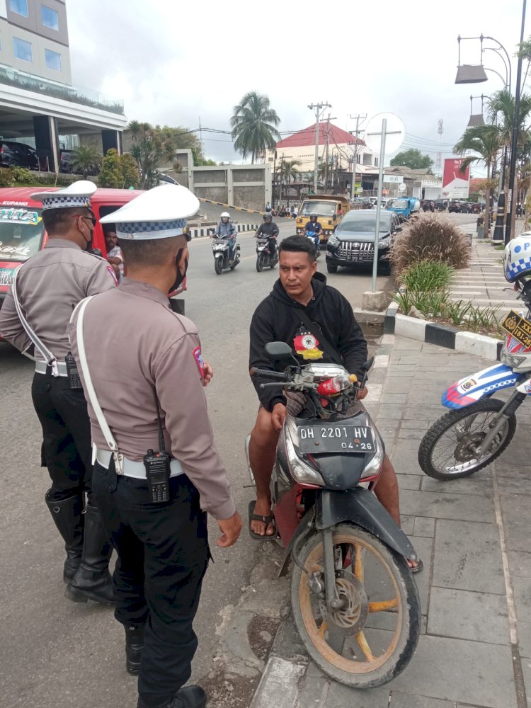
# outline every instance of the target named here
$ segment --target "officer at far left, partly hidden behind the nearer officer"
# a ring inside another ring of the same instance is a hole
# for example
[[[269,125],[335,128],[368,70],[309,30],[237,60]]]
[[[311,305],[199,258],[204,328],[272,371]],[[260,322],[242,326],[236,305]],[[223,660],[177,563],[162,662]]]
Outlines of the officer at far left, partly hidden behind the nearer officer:
[[[79,379],[75,372],[68,377],[65,363],[67,326],[76,304],[116,287],[110,265],[87,252],[96,224],[90,203],[95,191],[92,182],[78,181],[31,195],[42,201],[42,221],[50,239],[18,269],[0,311],[0,332],[35,358],[33,405],[42,426],[42,465],[52,480],[46,503],[67,551],[67,597],[113,603],[108,572],[112,549],[91,504],[89,416]]]

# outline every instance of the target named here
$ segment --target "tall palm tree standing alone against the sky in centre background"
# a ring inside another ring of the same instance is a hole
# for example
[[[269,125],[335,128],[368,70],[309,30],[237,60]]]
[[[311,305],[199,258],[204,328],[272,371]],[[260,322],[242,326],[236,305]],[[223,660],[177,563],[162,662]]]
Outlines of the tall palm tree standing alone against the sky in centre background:
[[[234,115],[231,118],[232,139],[234,149],[241,152],[241,156],[251,154],[251,164],[265,149],[273,149],[275,142],[280,138],[277,125],[280,118],[273,108],[269,106],[269,98],[256,91],[249,91],[234,106]]]

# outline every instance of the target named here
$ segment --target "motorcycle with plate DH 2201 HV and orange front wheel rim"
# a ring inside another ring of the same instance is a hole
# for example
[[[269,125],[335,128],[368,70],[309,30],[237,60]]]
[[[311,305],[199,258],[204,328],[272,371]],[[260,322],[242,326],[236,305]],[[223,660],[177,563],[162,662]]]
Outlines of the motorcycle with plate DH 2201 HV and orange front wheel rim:
[[[305,401],[297,416],[287,415],[271,479],[275,527],[285,547],[280,575],[290,557],[294,561],[297,630],[334,680],[357,688],[382,685],[413,656],[421,605],[406,563],[418,560],[413,546],[370,491],[384,445],[356,393],[372,360],[354,384],[338,365],[301,367],[284,342],[269,343],[265,352],[285,370],[252,369],[251,376]],[[249,438],[246,445],[249,461]],[[249,473],[254,482],[250,466]]]

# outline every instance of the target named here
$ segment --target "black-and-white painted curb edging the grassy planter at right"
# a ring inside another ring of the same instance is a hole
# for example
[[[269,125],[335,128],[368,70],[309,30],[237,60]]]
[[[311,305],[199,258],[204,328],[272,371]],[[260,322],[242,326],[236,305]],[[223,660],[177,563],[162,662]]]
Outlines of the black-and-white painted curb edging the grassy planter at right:
[[[484,359],[500,360],[503,342],[475,332],[463,332],[455,327],[399,314],[399,305],[392,302],[384,318],[384,334],[395,334],[436,346],[475,354]]]

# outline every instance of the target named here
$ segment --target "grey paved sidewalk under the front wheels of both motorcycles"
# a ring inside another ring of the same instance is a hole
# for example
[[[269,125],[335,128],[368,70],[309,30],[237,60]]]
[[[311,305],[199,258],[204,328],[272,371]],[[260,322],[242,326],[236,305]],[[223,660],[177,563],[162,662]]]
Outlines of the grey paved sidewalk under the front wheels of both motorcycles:
[[[444,389],[491,364],[385,335],[367,409],[399,475],[404,530],[424,561],[416,577],[422,634],[392,683],[360,691],[309,661],[291,619],[280,624],[252,708],[525,708],[531,705],[531,409],[508,450],[467,479],[418,467]],[[526,699],[526,683],[527,695]]]

